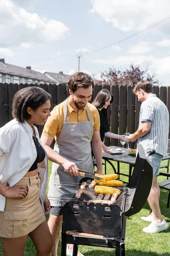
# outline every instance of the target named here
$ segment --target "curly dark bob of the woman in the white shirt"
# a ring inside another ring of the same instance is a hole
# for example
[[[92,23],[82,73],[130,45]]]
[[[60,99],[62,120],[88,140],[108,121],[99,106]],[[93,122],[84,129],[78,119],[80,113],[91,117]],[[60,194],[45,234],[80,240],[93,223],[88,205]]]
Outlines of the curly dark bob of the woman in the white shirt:
[[[40,87],[26,87],[15,93],[12,104],[12,116],[19,122],[24,122],[31,118],[27,108],[36,110],[43,105],[51,95]]]

